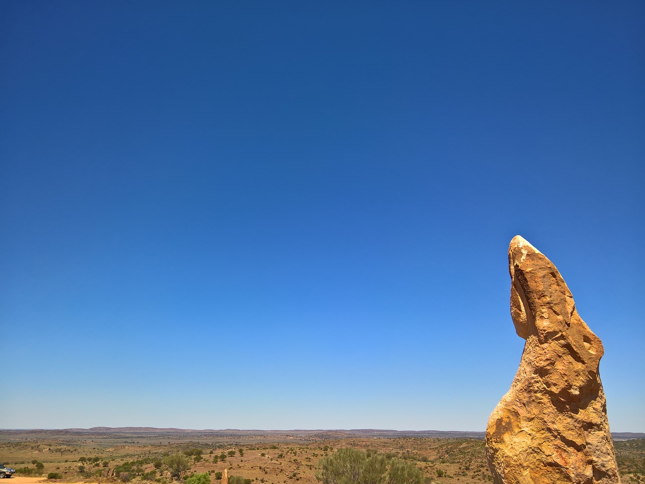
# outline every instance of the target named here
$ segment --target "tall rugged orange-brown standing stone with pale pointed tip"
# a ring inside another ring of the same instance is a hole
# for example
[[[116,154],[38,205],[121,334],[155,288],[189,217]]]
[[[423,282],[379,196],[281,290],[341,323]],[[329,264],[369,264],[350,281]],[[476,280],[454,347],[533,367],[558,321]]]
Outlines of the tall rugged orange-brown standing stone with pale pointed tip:
[[[511,316],[526,343],[486,428],[493,481],[620,483],[598,372],[600,339],[578,316],[555,265],[520,236],[511,240],[508,265]]]

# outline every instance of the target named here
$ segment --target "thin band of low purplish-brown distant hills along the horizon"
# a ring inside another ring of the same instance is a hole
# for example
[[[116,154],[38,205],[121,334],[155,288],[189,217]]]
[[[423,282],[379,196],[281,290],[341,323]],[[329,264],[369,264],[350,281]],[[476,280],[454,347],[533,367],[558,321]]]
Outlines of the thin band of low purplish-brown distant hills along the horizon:
[[[175,429],[156,427],[91,427],[90,429],[3,429],[1,432],[16,432],[20,434],[129,434],[129,435],[168,435],[183,434],[200,437],[233,437],[233,436],[275,436],[290,435],[313,439],[343,439],[343,438],[401,438],[401,437],[435,437],[483,439],[485,432],[461,432],[446,430],[384,430],[384,429],[350,429],[350,430],[240,430],[240,429]],[[644,439],[643,432],[611,432],[614,440]]]

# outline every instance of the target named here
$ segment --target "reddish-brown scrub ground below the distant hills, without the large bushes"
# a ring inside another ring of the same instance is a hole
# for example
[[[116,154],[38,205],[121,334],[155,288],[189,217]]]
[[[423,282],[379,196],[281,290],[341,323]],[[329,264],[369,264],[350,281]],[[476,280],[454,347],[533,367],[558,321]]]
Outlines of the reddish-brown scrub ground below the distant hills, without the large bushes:
[[[623,481],[645,483],[645,439],[615,444]],[[266,439],[249,443],[231,438],[146,441],[137,437],[14,437],[0,441],[0,462],[14,467],[16,476],[31,478],[56,473],[68,482],[166,484],[171,479],[161,459],[181,452],[190,459],[186,476],[208,472],[212,484],[219,484],[217,473],[224,469],[228,476],[246,479],[246,484],[315,484],[319,460],[341,447],[371,449],[387,458],[411,461],[422,470],[428,484],[492,481],[480,439],[343,438],[311,442],[279,438],[273,443]]]

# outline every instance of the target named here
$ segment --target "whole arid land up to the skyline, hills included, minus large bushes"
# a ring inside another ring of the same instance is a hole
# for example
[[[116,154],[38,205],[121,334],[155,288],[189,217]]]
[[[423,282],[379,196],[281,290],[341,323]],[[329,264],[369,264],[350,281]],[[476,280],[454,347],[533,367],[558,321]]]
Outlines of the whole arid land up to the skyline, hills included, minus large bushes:
[[[624,482],[645,481],[645,435],[615,434]],[[17,470],[16,483],[168,483],[164,456],[181,453],[190,470],[239,476],[246,484],[316,483],[319,461],[343,447],[404,459],[421,469],[427,483],[492,481],[482,432],[393,430],[180,430],[66,429],[1,430],[0,461]],[[28,478],[28,479],[26,479]],[[59,478],[59,479],[58,479]]]

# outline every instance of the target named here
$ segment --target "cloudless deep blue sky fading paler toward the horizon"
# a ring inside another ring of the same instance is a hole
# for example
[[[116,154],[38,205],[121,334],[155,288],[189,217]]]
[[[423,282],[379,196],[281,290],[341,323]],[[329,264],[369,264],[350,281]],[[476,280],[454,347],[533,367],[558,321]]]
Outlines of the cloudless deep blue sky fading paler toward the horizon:
[[[521,234],[644,432],[644,25],[3,1],[0,427],[484,430]]]

